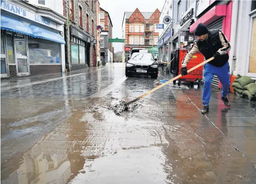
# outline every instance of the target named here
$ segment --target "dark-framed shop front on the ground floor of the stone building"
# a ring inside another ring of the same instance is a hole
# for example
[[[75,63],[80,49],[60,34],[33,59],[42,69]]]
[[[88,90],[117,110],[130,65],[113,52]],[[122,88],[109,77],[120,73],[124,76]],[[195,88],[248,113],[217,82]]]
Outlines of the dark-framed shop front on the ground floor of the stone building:
[[[75,27],[70,27],[71,39],[71,66],[72,70],[80,70],[89,67],[91,38]],[[95,55],[95,54],[94,54]],[[95,56],[94,56],[95,57]]]

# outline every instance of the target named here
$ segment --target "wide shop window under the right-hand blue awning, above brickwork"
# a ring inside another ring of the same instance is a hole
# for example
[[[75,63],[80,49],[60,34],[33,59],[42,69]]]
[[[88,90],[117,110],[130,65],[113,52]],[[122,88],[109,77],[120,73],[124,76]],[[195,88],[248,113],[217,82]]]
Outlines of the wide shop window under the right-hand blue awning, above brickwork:
[[[30,64],[61,64],[60,43],[28,37]]]

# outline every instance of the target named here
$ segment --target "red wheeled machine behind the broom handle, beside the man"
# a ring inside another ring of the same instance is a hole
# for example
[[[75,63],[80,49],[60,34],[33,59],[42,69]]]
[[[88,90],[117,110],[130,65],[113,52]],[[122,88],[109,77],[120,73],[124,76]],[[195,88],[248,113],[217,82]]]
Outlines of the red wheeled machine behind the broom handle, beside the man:
[[[171,51],[171,59],[174,58],[174,60],[171,63],[170,72],[172,74],[175,74],[175,76],[181,74],[180,73],[180,70],[182,67],[181,62],[184,56],[186,55],[187,51],[188,51],[187,49],[175,49]],[[192,67],[195,67],[199,63],[202,63],[203,60],[204,60],[204,56],[200,52],[195,53],[193,58],[191,58],[191,60],[187,64],[187,70],[191,69]],[[203,78],[203,66],[198,67],[197,69],[189,72],[187,75],[179,78],[178,86],[180,86],[181,81],[191,82],[192,85],[194,84],[195,81],[198,81],[198,85],[200,86],[202,78]],[[174,81],[173,83],[176,84],[176,81]]]

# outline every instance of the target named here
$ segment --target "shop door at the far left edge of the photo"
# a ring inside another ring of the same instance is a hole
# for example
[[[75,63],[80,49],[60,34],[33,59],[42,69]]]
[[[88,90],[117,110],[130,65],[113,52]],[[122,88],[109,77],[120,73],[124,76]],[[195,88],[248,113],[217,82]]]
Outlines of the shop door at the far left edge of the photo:
[[[6,45],[5,45],[4,31],[1,30],[1,77],[8,77],[8,66],[6,62]]]

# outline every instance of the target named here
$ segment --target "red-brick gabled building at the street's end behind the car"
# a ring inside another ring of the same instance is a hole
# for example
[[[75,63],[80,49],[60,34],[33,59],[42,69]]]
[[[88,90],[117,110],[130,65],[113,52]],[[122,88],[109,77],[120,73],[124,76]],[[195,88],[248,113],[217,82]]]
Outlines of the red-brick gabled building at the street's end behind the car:
[[[122,31],[123,39],[126,42],[123,44],[123,62],[127,60],[130,47],[150,49],[157,46],[158,32],[156,31],[156,24],[159,23],[159,16],[160,11],[158,9],[154,12],[140,12],[136,8],[134,12],[124,12]]]

